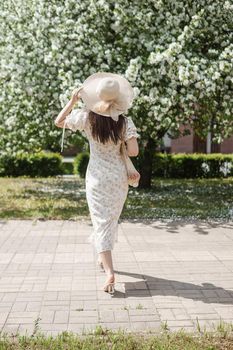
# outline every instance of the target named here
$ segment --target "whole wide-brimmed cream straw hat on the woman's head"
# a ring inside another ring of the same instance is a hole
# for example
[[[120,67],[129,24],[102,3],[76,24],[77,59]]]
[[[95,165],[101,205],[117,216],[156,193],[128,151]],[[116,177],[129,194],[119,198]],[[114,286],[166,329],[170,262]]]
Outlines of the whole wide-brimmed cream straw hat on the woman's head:
[[[133,88],[127,79],[106,72],[90,75],[79,94],[88,109],[115,121],[132,106],[134,98]]]

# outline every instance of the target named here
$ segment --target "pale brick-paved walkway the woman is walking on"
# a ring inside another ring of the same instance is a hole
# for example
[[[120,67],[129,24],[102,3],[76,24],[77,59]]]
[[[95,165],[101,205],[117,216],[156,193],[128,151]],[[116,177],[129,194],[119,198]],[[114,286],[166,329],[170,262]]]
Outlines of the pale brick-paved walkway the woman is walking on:
[[[121,222],[115,296],[86,239],[89,222],[0,221],[0,328],[82,332],[211,329],[233,322],[233,223]],[[39,318],[39,319],[38,319]]]

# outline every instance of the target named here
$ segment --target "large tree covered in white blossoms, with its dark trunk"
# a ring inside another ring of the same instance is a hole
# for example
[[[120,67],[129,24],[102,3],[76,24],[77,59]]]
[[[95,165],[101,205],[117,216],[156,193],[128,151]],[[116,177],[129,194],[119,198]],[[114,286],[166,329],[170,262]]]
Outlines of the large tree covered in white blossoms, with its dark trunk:
[[[167,131],[211,128],[216,142],[233,133],[231,1],[9,0],[0,9],[6,152],[59,150],[54,117],[96,71],[123,74],[135,89],[143,187]]]

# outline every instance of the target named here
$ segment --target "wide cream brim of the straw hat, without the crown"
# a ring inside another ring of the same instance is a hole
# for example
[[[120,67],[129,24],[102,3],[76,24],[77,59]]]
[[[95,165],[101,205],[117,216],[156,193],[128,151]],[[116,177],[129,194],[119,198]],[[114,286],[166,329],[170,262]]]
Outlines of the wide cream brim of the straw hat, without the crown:
[[[120,85],[120,93],[119,99],[124,102],[125,110],[127,110],[132,106],[132,102],[134,99],[134,91],[130,83],[127,79],[119,74],[107,73],[107,72],[98,72],[90,75],[82,84],[82,90],[80,90],[80,96],[86,105],[86,107],[90,110],[93,110],[98,102],[100,102],[100,98],[96,93],[96,88],[100,81],[103,78],[113,78],[116,79]],[[122,111],[119,111],[121,114]],[[109,116],[110,114],[105,113],[105,116]]]

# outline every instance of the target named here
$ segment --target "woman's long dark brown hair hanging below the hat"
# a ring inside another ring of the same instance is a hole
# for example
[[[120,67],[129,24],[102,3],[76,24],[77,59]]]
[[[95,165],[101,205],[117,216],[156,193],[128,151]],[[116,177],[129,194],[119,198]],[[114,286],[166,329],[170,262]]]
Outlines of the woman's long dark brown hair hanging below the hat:
[[[106,143],[111,139],[115,144],[118,140],[123,140],[123,133],[126,127],[126,117],[123,114],[119,115],[117,122],[111,117],[106,117],[93,111],[89,112],[88,117],[91,125],[92,137],[95,140]]]

